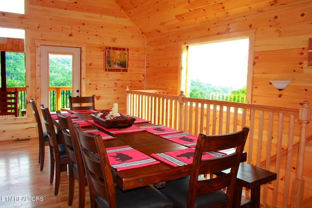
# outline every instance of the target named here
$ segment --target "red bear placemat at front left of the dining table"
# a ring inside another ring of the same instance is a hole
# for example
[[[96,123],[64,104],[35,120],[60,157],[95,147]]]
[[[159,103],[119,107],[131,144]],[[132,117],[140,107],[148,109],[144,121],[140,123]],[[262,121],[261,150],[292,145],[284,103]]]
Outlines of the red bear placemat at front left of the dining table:
[[[120,146],[106,148],[110,165],[119,170],[127,170],[139,167],[145,167],[160,163],[154,158],[133,149],[132,147]]]

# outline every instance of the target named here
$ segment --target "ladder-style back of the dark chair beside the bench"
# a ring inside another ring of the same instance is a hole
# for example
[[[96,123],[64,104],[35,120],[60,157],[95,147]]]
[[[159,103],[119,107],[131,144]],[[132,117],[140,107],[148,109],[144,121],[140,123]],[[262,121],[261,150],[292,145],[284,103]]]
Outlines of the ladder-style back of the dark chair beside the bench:
[[[237,171],[248,132],[249,129],[245,127],[242,131],[234,133],[220,135],[200,133],[198,135],[188,189],[187,207],[194,207],[195,197],[198,195],[209,194],[226,188],[228,201],[226,205],[221,205],[221,207],[232,208]],[[211,159],[201,159],[203,152],[222,152],[222,150],[230,148],[235,148],[235,152]],[[200,174],[213,174],[228,169],[230,169],[229,173],[220,174],[207,180],[198,180]]]

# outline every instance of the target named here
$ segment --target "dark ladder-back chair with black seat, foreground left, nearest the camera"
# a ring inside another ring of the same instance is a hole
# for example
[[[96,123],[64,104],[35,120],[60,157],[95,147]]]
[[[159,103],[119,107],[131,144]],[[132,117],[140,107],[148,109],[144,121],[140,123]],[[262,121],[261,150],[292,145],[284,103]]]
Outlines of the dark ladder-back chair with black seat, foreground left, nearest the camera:
[[[87,173],[92,208],[168,208],[174,206],[153,186],[127,191],[122,191],[115,186],[102,137],[82,132],[79,124],[75,124],[75,128]]]

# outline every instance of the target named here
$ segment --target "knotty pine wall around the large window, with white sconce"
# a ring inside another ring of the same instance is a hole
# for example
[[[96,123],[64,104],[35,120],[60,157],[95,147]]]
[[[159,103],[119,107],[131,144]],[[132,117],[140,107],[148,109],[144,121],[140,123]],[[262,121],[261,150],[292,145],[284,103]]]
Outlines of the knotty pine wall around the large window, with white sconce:
[[[202,23],[195,17],[190,19],[174,24],[171,32],[147,35],[146,86],[149,89],[168,88],[169,94],[178,95],[176,77],[179,77],[182,45],[250,33],[254,38],[253,74],[249,80],[251,103],[299,109],[300,103],[308,100],[312,106],[312,67],[308,67],[312,0],[297,0],[279,9],[266,8]],[[279,92],[270,84],[269,80],[274,79],[291,80],[291,83]],[[311,136],[312,125],[308,128]]]

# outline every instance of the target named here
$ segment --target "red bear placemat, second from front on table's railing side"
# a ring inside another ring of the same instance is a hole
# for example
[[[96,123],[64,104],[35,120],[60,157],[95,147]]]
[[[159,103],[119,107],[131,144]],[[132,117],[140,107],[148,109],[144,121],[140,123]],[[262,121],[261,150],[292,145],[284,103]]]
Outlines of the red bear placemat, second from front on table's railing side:
[[[162,135],[161,137],[186,147],[196,147],[197,143],[197,136],[187,132]]]

